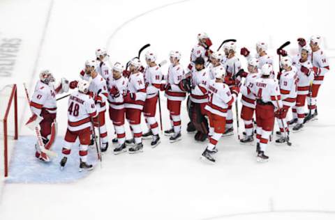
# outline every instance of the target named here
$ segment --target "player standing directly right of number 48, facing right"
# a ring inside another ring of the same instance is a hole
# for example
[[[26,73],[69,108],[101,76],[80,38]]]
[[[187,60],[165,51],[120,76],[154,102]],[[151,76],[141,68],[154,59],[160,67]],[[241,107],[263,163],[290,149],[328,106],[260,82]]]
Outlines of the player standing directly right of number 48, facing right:
[[[105,111],[108,92],[105,79],[101,77],[101,74],[96,72],[97,64],[98,63],[94,60],[87,61],[86,72],[91,74],[92,79],[89,84],[89,93],[93,95],[96,103],[96,109],[98,111],[98,116],[94,118],[94,127],[98,127],[98,134],[101,139],[101,152],[105,152],[108,148],[107,128],[105,125]]]

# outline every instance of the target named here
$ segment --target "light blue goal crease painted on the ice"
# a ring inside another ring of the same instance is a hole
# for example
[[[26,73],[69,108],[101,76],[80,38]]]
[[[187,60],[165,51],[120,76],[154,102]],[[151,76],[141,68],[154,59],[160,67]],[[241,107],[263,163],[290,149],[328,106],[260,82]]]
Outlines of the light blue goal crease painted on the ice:
[[[74,182],[89,175],[89,172],[79,172],[79,143],[75,143],[63,171],[59,161],[63,157],[61,148],[63,139],[58,137],[52,149],[58,153],[50,163],[39,162],[35,157],[35,136],[20,136],[15,143],[9,165],[7,183],[66,183]],[[89,149],[89,163],[96,164],[96,149]],[[92,171],[91,171],[92,172]]]

